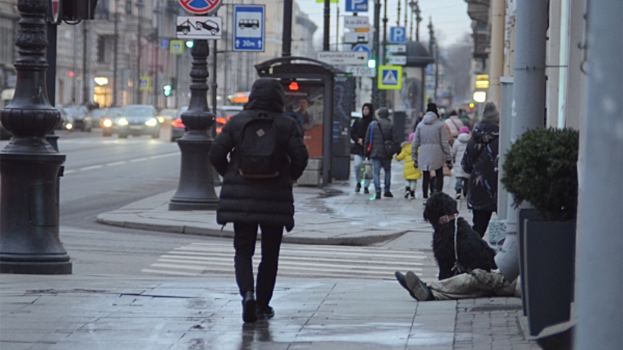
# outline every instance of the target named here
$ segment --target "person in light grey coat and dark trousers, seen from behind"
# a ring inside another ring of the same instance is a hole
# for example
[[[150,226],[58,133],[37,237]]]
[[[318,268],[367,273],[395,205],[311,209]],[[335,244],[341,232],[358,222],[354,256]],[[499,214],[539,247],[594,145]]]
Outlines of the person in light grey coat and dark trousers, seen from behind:
[[[443,190],[444,163],[452,169],[452,154],[448,142],[448,133],[443,122],[434,112],[426,112],[424,119],[415,129],[415,137],[411,146],[411,157],[416,168],[422,169],[422,191],[424,203],[428,198],[428,187],[431,182],[430,171],[435,172],[436,192]],[[431,184],[432,185],[432,184]]]

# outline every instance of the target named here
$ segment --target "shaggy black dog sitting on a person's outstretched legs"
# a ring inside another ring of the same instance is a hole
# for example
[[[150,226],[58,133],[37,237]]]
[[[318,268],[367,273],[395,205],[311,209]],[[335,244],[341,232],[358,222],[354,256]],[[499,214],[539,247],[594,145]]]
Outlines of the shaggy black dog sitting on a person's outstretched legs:
[[[435,229],[433,233],[433,255],[439,266],[439,279],[454,276],[454,230],[455,220],[458,220],[457,246],[459,262],[468,270],[481,269],[491,271],[496,269],[495,251],[489,247],[480,235],[462,217],[445,224],[439,223],[439,218],[445,215],[458,213],[454,199],[445,193],[433,195],[426,202],[424,220],[430,222]]]

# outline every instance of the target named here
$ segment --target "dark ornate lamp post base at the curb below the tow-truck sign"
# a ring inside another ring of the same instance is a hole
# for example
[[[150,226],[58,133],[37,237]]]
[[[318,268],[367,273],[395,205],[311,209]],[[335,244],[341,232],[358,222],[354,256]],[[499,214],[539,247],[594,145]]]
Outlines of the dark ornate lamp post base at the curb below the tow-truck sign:
[[[177,140],[182,152],[180,182],[169,202],[169,210],[215,210],[218,197],[214,191],[213,168],[208,152],[214,139],[208,132],[214,125],[214,114],[208,108],[207,40],[195,40],[190,77],[190,104],[182,114],[186,133]]]

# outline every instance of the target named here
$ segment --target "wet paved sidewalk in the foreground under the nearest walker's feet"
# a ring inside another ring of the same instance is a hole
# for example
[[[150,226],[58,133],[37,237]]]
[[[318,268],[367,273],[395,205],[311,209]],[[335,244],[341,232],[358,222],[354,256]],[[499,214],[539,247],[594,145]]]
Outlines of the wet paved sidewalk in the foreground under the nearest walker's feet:
[[[394,281],[279,278],[243,324],[231,277],[0,276],[3,350],[539,349],[517,298],[417,302]]]

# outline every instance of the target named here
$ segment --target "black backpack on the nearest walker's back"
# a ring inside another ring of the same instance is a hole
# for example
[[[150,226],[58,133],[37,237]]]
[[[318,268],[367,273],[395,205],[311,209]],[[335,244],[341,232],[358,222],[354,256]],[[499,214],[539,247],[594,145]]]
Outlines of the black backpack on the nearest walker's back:
[[[244,123],[240,130],[238,173],[249,179],[271,179],[279,176],[283,147],[279,147],[279,131],[275,114],[259,112]]]

